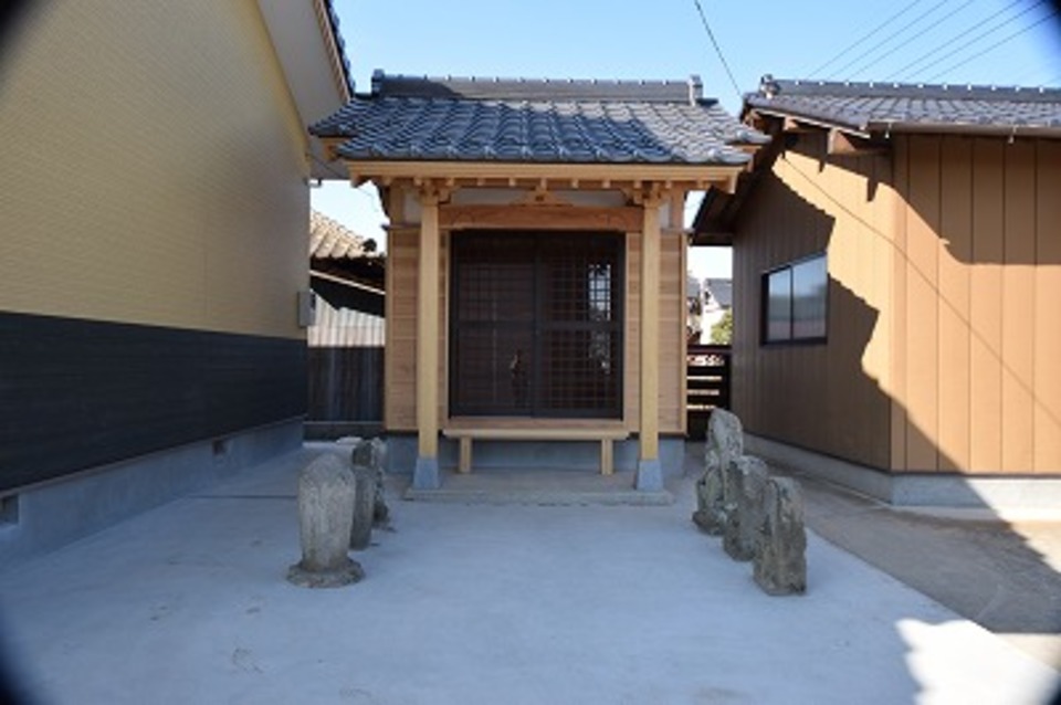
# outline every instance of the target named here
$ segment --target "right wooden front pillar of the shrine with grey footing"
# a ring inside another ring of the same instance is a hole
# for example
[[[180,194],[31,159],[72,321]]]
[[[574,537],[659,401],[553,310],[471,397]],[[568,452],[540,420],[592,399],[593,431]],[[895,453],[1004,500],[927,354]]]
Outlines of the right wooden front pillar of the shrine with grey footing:
[[[641,228],[641,424],[638,490],[663,488],[660,465],[660,206],[642,202]]]

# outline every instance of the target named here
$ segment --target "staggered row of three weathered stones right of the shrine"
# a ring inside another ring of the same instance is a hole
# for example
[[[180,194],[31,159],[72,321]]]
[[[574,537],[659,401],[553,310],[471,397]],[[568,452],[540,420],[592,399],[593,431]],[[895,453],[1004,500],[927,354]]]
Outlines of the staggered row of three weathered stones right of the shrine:
[[[807,532],[799,484],[775,477],[766,463],[744,454],[740,420],[722,409],[707,424],[704,475],[696,482],[693,522],[734,560],[753,561],[756,583],[768,594],[807,590]]]

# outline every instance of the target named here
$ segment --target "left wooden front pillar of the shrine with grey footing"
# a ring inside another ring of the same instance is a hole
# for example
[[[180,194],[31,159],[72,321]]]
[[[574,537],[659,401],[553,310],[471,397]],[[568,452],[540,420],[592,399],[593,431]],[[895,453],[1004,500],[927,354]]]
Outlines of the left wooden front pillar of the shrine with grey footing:
[[[439,477],[439,194],[420,192],[417,281],[417,490],[437,490]]]

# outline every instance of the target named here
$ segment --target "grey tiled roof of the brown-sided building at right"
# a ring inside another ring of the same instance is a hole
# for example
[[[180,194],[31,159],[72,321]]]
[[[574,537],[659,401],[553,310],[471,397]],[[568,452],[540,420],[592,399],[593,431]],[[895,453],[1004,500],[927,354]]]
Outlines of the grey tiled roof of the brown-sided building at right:
[[[1061,90],[781,81],[764,76],[747,108],[860,133],[1061,137]]]

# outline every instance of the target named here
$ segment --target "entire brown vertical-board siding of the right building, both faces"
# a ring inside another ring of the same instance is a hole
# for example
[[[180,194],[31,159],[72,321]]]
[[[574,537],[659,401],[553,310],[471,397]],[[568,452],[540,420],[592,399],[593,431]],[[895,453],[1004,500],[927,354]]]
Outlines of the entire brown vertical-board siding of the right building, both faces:
[[[734,408],[897,472],[1061,472],[1061,143],[802,135],[738,225]],[[758,343],[764,271],[828,248],[829,341]]]

